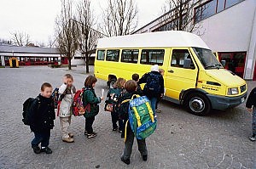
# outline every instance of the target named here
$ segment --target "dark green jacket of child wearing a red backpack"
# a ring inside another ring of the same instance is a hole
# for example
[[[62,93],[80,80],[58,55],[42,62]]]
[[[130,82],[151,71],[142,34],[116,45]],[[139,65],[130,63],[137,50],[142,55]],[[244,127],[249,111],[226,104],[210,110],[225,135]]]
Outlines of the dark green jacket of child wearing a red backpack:
[[[99,113],[99,103],[101,103],[101,98],[96,97],[94,88],[85,87],[83,93],[83,104],[84,107],[90,104],[90,111],[84,113],[85,118],[96,116]]]

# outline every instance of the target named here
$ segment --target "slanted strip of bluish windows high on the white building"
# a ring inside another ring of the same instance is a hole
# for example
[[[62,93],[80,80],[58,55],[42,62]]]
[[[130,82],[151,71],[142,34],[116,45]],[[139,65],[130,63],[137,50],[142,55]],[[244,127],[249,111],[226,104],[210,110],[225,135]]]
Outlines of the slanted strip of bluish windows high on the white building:
[[[241,3],[242,1],[244,0],[211,0],[207,3],[203,3],[195,8],[195,23],[207,19],[213,14],[217,14],[226,8],[230,8],[236,3]]]

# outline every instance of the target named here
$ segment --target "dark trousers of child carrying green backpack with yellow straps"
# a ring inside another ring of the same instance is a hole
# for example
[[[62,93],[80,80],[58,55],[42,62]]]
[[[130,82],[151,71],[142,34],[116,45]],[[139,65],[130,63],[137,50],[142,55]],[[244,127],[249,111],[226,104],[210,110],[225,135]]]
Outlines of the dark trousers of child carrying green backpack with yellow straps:
[[[128,124],[130,125],[130,124]],[[134,133],[131,131],[131,127],[127,128],[125,150],[122,157],[127,160],[131,157],[132,145],[134,140]],[[137,147],[141,155],[148,155],[148,149],[145,139],[137,139]]]

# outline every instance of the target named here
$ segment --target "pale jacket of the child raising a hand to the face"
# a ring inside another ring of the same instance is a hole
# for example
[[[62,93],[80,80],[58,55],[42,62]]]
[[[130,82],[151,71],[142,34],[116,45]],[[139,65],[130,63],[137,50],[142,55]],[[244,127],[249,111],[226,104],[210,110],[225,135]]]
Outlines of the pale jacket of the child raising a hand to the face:
[[[73,105],[73,97],[76,93],[76,88],[74,86],[67,87],[67,84],[62,84],[59,88],[60,97],[63,94],[64,97],[61,99],[60,104],[60,117],[68,117],[71,116],[72,113],[72,105]]]

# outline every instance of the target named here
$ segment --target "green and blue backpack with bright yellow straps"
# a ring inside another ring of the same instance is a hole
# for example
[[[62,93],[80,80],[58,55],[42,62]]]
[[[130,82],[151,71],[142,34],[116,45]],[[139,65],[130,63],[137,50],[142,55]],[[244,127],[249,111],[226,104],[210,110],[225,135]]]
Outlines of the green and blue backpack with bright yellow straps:
[[[141,97],[135,94],[130,100],[125,100],[123,103],[127,101],[129,101],[128,114],[132,132],[137,139],[148,138],[154,132],[157,124],[149,99],[146,96]],[[128,121],[125,128],[127,123]]]

